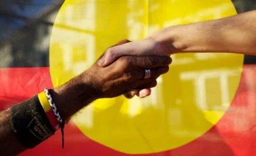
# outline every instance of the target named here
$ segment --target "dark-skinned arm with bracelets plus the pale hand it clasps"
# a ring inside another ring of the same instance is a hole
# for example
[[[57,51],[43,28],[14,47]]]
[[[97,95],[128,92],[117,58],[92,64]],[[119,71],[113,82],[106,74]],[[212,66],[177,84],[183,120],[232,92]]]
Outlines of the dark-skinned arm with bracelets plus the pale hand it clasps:
[[[63,147],[63,128],[73,114],[101,98],[149,96],[150,88],[157,85],[157,77],[168,72],[170,63],[170,50],[154,39],[122,40],[69,82],[1,111],[1,153],[16,155],[33,148],[59,128]]]

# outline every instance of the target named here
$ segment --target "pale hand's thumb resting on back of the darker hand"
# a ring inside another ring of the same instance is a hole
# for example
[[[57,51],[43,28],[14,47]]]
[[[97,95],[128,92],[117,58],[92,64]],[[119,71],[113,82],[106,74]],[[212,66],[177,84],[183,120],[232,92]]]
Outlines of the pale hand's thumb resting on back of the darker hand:
[[[98,60],[98,65],[102,66],[102,67],[106,67],[108,65],[110,65],[111,63],[114,62],[114,60],[116,60],[118,57],[123,56],[123,52],[122,48],[119,48],[120,45],[123,45],[125,43],[129,43],[131,42],[130,40],[121,40],[120,42],[116,43],[113,46],[110,46],[110,48],[108,48],[106,50],[105,53],[103,53],[103,55],[100,57],[100,59]],[[119,50],[120,49],[120,50]]]

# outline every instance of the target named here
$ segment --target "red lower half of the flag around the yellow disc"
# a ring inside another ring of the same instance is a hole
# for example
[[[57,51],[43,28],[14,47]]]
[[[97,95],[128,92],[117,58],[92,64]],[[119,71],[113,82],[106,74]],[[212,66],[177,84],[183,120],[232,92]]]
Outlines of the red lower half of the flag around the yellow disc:
[[[244,66],[241,82],[230,110],[197,140],[182,147],[146,155],[256,155],[256,66]],[[0,69],[0,101],[16,103],[52,87],[48,68]],[[0,106],[3,106],[3,105]],[[6,105],[4,106],[6,107]],[[189,135],[189,134],[188,134]],[[72,122],[65,127],[65,149],[60,131],[33,150],[21,155],[128,155],[89,140]]]

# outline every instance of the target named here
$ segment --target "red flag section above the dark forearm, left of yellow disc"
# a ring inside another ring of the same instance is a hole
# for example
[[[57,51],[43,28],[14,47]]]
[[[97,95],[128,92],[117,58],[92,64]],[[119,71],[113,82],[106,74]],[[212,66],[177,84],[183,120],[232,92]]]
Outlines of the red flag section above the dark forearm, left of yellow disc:
[[[49,67],[0,68],[0,110],[52,88]]]

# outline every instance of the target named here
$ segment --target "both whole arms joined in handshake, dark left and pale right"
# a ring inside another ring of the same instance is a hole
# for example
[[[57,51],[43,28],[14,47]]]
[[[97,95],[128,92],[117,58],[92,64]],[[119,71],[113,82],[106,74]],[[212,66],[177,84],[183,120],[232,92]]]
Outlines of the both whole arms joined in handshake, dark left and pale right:
[[[48,91],[50,94],[47,96],[52,97],[49,103],[54,101],[53,111],[55,116],[58,114],[58,118],[63,119],[62,125],[81,108],[97,99],[122,94],[127,98],[135,95],[149,96],[150,88],[157,85],[157,77],[168,72],[171,54],[225,52],[256,55],[256,22],[252,22],[255,20],[256,11],[250,11],[213,21],[170,26],[134,42],[122,40],[107,49],[85,72]],[[39,101],[39,96],[34,96],[0,112],[0,142],[3,144],[0,151],[3,155],[16,155],[43,141],[30,133],[34,129],[29,129],[28,121],[33,121],[33,118],[45,121],[34,126],[43,127],[48,123],[48,128],[42,130],[55,126],[48,122],[49,118],[56,120],[54,115],[53,118],[45,116],[46,111],[42,106],[50,107],[46,97],[45,99],[46,101]],[[26,146],[28,144],[29,147]],[[12,150],[5,147],[12,147]]]

